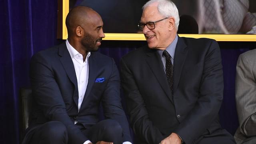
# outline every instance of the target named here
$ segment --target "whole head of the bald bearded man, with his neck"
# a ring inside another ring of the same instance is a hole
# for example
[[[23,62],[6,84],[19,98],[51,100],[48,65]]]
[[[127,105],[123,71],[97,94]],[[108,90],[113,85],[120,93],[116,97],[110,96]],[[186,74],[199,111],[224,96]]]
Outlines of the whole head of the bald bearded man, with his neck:
[[[70,10],[66,18],[68,42],[85,60],[87,52],[97,51],[101,45],[103,22],[101,16],[92,8],[77,6]]]

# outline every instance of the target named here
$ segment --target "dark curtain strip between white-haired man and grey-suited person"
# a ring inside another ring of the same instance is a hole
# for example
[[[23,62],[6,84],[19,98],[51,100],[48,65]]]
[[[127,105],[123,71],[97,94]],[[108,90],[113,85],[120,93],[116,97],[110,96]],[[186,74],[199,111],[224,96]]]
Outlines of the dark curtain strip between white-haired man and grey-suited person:
[[[223,66],[224,94],[220,108],[220,124],[232,135],[238,128],[235,101],[236,62],[238,56],[256,48],[256,42],[218,42]]]

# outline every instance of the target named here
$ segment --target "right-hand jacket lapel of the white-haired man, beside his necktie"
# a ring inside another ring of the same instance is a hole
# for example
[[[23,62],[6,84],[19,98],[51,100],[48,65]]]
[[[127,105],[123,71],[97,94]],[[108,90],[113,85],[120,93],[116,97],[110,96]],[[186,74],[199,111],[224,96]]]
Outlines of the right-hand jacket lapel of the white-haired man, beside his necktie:
[[[182,38],[178,37],[178,42],[177,42],[175,56],[174,56],[174,72],[173,72],[174,94],[176,92],[176,89],[177,89],[179,81],[180,81],[180,75],[181,75],[182,68],[183,68],[187,54],[188,54],[187,45],[185,44],[185,42]]]

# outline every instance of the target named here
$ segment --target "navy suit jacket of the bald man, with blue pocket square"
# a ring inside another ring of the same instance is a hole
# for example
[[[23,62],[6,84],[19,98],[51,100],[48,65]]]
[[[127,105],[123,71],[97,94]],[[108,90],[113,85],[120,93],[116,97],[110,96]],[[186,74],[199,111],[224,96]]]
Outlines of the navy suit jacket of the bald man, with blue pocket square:
[[[88,86],[79,113],[76,72],[65,43],[34,55],[30,77],[35,105],[30,112],[27,135],[40,124],[60,121],[68,130],[69,140],[82,144],[88,138],[74,125],[74,121],[77,120],[84,128],[96,124],[102,102],[104,116],[119,122],[124,141],[131,141],[121,105],[119,72],[112,58],[91,52]],[[105,78],[105,81],[95,82],[96,78]]]

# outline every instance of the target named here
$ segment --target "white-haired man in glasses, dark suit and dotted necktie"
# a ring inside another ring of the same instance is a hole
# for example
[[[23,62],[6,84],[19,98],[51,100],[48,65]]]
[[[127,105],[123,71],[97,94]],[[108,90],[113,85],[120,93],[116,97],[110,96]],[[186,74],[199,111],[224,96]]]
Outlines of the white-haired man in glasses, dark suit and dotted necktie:
[[[132,128],[138,144],[234,144],[222,129],[220,48],[215,40],[181,38],[170,0],[143,6],[138,28],[148,45],[121,59]]]

